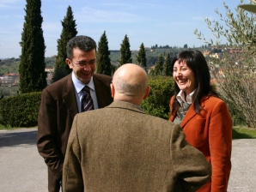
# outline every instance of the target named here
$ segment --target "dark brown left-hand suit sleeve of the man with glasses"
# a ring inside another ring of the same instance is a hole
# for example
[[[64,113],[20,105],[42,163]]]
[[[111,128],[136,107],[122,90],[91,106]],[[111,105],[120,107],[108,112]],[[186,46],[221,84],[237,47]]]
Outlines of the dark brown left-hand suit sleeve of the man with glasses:
[[[62,177],[64,156],[57,145],[57,104],[50,93],[43,90],[38,115],[37,147],[52,174]]]

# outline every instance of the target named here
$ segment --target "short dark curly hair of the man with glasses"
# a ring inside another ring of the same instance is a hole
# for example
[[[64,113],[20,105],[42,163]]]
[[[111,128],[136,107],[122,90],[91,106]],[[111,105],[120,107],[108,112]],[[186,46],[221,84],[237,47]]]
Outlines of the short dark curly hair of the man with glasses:
[[[67,57],[72,59],[73,58],[73,49],[79,48],[82,51],[92,51],[97,49],[97,45],[94,39],[85,36],[85,35],[78,35],[69,40],[67,44]]]

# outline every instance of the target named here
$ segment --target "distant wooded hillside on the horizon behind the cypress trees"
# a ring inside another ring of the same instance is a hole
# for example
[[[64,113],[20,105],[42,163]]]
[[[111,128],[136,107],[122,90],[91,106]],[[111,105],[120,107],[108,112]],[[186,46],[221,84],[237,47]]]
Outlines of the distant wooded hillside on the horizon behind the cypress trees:
[[[188,48],[190,49],[190,48]],[[205,48],[195,48],[199,51],[205,51]],[[210,49],[210,48],[209,48]],[[155,65],[158,60],[160,54],[163,57],[166,57],[167,53],[170,52],[171,58],[174,57],[178,52],[187,50],[184,48],[156,48],[156,49],[146,49],[146,59],[147,59],[147,66],[151,67]],[[131,51],[131,58],[132,63],[136,63],[136,56],[138,51]],[[120,58],[120,51],[110,51],[110,59],[111,63],[117,65],[119,63]],[[45,59],[46,67],[54,67],[55,65],[55,57],[46,57]],[[7,74],[7,73],[18,73],[20,58],[8,58],[2,59],[0,62],[0,75]]]

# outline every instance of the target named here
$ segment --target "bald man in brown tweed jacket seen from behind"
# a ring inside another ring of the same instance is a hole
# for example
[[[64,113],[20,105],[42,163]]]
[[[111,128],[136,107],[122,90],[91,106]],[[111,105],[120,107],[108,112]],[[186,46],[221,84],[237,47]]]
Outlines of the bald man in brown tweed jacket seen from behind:
[[[64,159],[64,192],[187,192],[209,181],[210,163],[186,142],[180,125],[141,109],[149,90],[141,67],[122,65],[113,75],[113,103],[76,115]]]

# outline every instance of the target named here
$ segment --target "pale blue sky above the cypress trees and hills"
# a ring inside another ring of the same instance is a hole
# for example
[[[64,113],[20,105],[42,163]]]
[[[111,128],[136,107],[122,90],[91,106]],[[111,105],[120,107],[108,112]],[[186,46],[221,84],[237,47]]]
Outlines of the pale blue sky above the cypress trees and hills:
[[[225,15],[223,2],[235,12],[240,0],[41,0],[46,57],[57,55],[61,21],[69,5],[78,35],[88,35],[98,43],[106,31],[109,50],[119,50],[127,34],[131,50],[137,50],[142,43],[148,47],[204,45],[193,32],[198,29],[206,39],[212,38],[204,18],[218,21],[215,9]],[[21,55],[25,6],[25,0],[0,0],[0,58]]]

